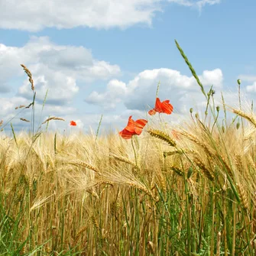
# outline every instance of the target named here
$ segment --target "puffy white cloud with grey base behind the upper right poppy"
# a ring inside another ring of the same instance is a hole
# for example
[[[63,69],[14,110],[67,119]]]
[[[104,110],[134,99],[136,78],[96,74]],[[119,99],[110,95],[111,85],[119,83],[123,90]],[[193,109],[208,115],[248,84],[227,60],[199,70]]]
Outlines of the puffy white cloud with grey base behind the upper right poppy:
[[[205,70],[199,79],[206,89],[212,84],[215,89],[222,89],[222,70]],[[183,76],[177,70],[161,68],[144,70],[127,84],[112,80],[105,92],[92,92],[86,102],[105,109],[115,109],[119,102],[123,102],[127,109],[144,111],[148,109],[148,104],[154,106],[158,81],[160,99],[170,99],[177,112],[187,112],[191,106],[202,105],[205,101],[193,76]]]

